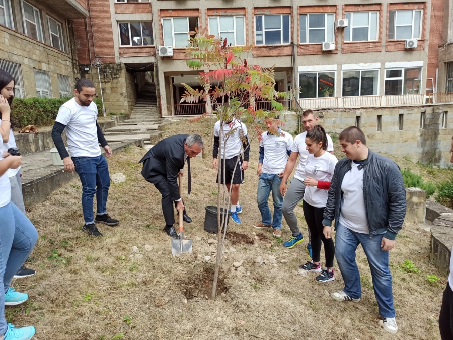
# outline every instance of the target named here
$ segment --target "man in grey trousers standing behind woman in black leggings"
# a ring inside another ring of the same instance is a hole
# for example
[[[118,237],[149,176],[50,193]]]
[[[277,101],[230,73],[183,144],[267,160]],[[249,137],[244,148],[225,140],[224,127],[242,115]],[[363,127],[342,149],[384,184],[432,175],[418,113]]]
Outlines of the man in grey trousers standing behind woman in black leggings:
[[[304,237],[299,230],[297,217],[294,214],[294,208],[304,198],[305,193],[305,165],[307,163],[307,157],[309,152],[307,150],[307,145],[305,144],[305,138],[307,136],[307,131],[310,131],[318,124],[318,113],[313,112],[312,110],[306,110],[302,113],[302,124],[304,125],[305,132],[300,133],[294,139],[292,145],[292,152],[289,156],[288,162],[283,173],[283,178],[280,185],[280,193],[284,196],[283,205],[281,211],[285,217],[285,221],[291,230],[292,236],[289,241],[283,243],[286,248],[293,248],[296,244],[299,244],[304,241]],[[327,134],[327,151],[333,155],[333,142],[330,135]],[[297,161],[297,156],[299,156],[299,164],[297,165],[296,172],[294,177],[289,182],[289,188],[286,191],[286,181],[291,175],[294,165]],[[310,232],[309,232],[310,239]],[[309,243],[307,244],[307,252],[312,257],[312,247]]]

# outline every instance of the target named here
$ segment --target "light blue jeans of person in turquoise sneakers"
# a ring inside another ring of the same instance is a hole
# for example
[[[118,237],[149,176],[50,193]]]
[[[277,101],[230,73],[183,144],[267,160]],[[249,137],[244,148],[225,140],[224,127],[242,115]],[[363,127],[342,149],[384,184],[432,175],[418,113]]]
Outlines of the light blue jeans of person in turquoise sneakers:
[[[0,208],[0,278],[3,280],[5,293],[37,240],[35,226],[19,208],[12,202]],[[0,294],[0,335],[7,331],[5,293]]]

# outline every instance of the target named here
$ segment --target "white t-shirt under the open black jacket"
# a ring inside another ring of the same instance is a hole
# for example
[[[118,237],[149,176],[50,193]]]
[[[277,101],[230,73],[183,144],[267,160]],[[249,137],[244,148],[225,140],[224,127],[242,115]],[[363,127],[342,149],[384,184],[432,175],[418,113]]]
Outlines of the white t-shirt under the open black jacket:
[[[343,198],[338,221],[356,233],[369,234],[363,195],[364,169],[359,170],[359,165],[352,162],[351,170],[344,175],[341,183]]]

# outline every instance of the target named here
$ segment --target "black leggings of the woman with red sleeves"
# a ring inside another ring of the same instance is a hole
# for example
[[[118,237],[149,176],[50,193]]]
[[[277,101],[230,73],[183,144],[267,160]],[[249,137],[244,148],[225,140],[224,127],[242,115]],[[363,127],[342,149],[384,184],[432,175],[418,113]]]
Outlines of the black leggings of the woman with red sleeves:
[[[324,243],[324,252],[326,253],[326,267],[333,267],[335,257],[335,245],[332,238],[325,238],[323,234],[323,214],[324,208],[316,208],[304,200],[304,217],[307,226],[312,234],[311,244],[313,252],[313,262],[319,262],[321,254],[321,241]]]

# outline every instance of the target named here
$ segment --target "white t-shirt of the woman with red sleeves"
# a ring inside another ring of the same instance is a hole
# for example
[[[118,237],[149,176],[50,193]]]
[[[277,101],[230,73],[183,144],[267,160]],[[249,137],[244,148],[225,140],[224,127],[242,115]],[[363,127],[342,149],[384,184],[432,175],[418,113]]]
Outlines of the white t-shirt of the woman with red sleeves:
[[[317,181],[330,182],[337,163],[337,158],[327,151],[319,157],[309,154],[305,164],[305,176]],[[318,189],[316,186],[305,187],[304,200],[313,207],[325,207],[328,196],[328,190]]]

